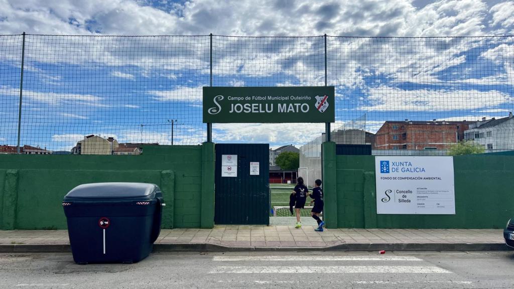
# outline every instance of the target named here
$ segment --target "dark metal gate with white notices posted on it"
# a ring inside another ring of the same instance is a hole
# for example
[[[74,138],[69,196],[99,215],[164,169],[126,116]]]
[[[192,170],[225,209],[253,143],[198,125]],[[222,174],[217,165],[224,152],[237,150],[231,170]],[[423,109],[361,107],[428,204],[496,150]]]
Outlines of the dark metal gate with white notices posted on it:
[[[217,143],[215,148],[214,223],[269,225],[269,145]],[[251,162],[259,163],[258,174],[250,174],[256,168]]]

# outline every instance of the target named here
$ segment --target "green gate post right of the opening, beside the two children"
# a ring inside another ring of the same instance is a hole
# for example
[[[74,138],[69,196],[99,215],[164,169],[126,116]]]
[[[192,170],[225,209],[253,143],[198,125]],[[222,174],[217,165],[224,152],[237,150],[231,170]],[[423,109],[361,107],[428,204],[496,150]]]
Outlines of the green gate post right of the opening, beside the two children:
[[[329,229],[337,228],[337,178],[336,178],[336,143],[325,141],[322,146],[323,166],[323,221]]]

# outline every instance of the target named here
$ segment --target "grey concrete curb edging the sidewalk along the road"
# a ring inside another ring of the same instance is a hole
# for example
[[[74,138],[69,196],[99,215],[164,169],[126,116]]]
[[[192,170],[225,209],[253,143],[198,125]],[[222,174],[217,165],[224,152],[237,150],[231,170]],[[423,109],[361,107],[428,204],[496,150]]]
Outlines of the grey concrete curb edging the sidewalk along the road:
[[[245,251],[503,251],[504,243],[343,243],[326,247],[225,246],[210,243],[154,244],[154,252],[245,252]],[[0,253],[71,252],[69,244],[0,244]]]

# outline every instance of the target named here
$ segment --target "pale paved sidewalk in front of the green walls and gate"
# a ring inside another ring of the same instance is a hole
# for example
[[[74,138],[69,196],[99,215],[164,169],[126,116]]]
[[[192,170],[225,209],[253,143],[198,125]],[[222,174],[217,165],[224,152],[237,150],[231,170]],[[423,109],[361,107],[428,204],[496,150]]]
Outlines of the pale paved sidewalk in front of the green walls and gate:
[[[216,225],[162,230],[154,250],[506,250],[501,229],[325,229]],[[0,252],[69,251],[66,230],[0,231]]]

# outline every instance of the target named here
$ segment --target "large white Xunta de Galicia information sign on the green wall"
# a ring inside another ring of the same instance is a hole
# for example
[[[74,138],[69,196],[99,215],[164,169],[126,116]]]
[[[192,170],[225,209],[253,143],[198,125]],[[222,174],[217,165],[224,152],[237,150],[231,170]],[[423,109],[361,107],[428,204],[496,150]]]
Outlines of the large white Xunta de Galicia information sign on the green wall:
[[[376,156],[378,214],[455,214],[453,157]]]

